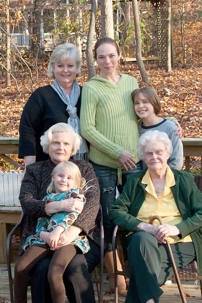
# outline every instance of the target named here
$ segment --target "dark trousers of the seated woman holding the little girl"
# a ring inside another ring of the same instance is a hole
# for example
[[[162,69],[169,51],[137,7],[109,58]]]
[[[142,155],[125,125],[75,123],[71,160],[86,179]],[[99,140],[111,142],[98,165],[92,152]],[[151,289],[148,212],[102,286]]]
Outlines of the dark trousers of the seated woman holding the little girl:
[[[70,303],[95,303],[93,283],[90,273],[100,263],[100,247],[89,240],[90,250],[86,254],[76,254],[63,274],[66,295]],[[52,303],[48,282],[51,256],[42,259],[32,269],[29,278],[32,303]]]

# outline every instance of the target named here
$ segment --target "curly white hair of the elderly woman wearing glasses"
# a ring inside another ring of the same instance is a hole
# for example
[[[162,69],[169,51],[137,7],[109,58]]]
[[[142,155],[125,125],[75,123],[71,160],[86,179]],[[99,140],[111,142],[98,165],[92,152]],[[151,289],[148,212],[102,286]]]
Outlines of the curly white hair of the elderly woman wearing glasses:
[[[140,136],[140,139],[137,143],[137,154],[141,160],[144,160],[144,148],[145,146],[151,142],[162,142],[165,145],[166,151],[169,155],[173,152],[172,142],[168,138],[167,133],[159,132],[159,131],[148,131]]]

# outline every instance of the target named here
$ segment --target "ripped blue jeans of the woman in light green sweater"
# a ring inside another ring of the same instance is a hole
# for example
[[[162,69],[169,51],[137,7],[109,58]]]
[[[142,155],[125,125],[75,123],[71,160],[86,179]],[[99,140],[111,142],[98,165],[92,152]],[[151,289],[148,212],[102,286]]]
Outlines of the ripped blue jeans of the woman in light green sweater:
[[[118,185],[118,170],[92,162],[93,169],[99,182],[100,187],[100,204],[103,211],[103,227],[105,242],[109,243],[107,251],[112,251],[112,236],[114,225],[109,218],[109,211],[112,203],[116,200],[116,187],[119,193],[122,193],[123,187],[126,184],[127,177],[137,171],[142,170],[142,161],[136,164],[137,168],[126,171],[122,169],[122,184]]]

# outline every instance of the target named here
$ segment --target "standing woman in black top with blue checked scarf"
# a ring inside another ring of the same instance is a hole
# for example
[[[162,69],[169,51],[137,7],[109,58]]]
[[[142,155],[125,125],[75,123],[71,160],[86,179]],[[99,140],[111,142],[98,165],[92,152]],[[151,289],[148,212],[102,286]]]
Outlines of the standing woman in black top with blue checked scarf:
[[[57,46],[49,59],[47,76],[51,85],[39,87],[25,104],[19,125],[19,158],[24,158],[25,168],[35,161],[48,160],[40,145],[40,137],[52,125],[64,122],[72,125],[80,135],[80,109],[82,86],[76,80],[81,70],[81,58],[76,45],[64,43]],[[87,160],[86,140],[74,155]]]

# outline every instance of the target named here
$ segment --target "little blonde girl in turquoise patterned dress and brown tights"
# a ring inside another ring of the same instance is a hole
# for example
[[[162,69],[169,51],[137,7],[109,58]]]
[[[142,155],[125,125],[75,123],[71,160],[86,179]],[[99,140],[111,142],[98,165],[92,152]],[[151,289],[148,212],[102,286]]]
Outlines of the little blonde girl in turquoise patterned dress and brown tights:
[[[85,203],[82,188],[86,181],[81,177],[79,168],[73,162],[61,162],[52,171],[52,182],[47,188],[43,200],[61,201],[70,198],[81,198]],[[14,276],[14,302],[27,302],[28,274],[33,266],[48,254],[54,254],[49,266],[48,279],[51,288],[53,303],[65,302],[65,287],[63,273],[77,253],[89,251],[89,243],[86,236],[77,236],[69,245],[57,246],[59,237],[63,231],[69,228],[76,220],[76,212],[60,211],[50,218],[38,219],[36,234],[27,238],[22,248],[25,253],[15,265]]]

